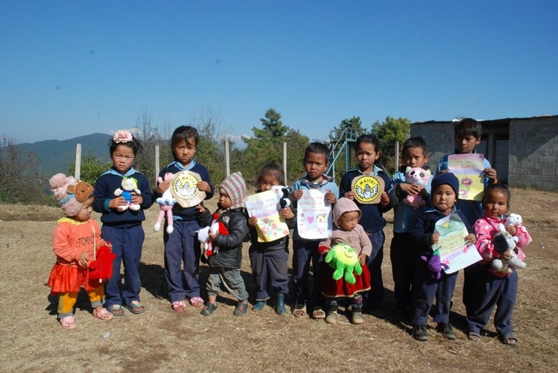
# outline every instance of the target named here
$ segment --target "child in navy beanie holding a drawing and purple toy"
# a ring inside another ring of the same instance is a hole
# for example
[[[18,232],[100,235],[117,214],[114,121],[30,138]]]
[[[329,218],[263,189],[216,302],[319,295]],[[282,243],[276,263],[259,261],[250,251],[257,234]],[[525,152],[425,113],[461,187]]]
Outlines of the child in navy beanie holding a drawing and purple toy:
[[[418,250],[415,256],[412,287],[411,322],[414,325],[413,337],[420,341],[429,339],[426,328],[428,314],[430,314],[432,301],[436,298],[432,317],[434,322],[438,324],[437,329],[448,340],[455,340],[457,336],[453,331],[453,326],[449,323],[449,310],[458,272],[446,274],[442,271],[440,276],[433,276],[428,269],[428,264],[434,257],[432,244],[437,243],[440,236],[439,233],[435,232],[436,222],[450,214],[457,214],[467,227],[467,232],[469,232],[464,237],[465,242],[475,243],[476,236],[472,233],[472,227],[467,222],[465,215],[455,208],[459,196],[459,181],[454,174],[446,172],[433,178],[431,195],[433,207],[417,218],[411,232],[412,240],[415,242],[414,248]],[[423,261],[423,259],[420,259],[421,257],[425,257],[428,261]]]

